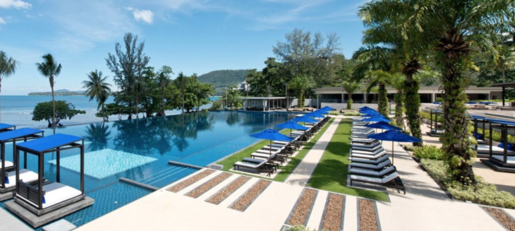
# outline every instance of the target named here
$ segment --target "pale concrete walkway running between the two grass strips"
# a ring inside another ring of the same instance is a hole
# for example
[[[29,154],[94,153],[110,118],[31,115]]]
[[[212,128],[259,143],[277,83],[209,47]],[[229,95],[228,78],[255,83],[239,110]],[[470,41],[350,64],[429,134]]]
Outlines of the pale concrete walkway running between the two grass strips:
[[[325,133],[322,134],[317,143],[315,143],[315,146],[313,146],[308,154],[305,155],[297,168],[291,172],[290,176],[285,181],[286,184],[298,186],[305,186],[308,184],[311,174],[313,174],[318,162],[320,162],[320,158],[324,155],[325,148],[329,145],[329,141],[331,141],[332,135],[337,130],[340,121],[341,119],[337,118],[334,119],[332,124],[329,124]]]

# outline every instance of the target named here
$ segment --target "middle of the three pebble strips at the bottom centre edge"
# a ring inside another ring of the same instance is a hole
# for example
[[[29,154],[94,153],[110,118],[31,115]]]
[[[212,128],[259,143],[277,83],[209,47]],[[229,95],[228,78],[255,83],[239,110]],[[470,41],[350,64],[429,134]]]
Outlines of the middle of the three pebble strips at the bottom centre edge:
[[[341,213],[344,211],[343,195],[330,194],[329,203],[325,211],[322,230],[339,231],[341,227]]]

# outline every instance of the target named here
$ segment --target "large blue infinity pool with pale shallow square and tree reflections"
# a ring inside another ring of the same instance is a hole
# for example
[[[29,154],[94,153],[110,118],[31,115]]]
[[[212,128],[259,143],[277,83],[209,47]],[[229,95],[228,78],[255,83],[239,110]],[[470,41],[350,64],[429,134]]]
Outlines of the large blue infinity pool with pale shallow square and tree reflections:
[[[119,182],[125,177],[163,187],[197,171],[169,165],[170,160],[205,166],[258,141],[248,135],[280,124],[288,113],[198,112],[59,128],[56,133],[85,138],[85,194],[95,204],[64,217],[84,225],[151,191]],[[45,131],[45,135],[52,134]],[[80,188],[74,150],[61,151],[61,182]],[[54,153],[45,155],[44,177],[55,179]],[[6,146],[12,160],[12,145]],[[28,156],[28,169],[37,172],[37,158]],[[130,160],[130,161],[128,161]],[[23,155],[20,157],[23,162]],[[4,201],[5,202],[5,201]],[[4,208],[4,203],[0,203]]]

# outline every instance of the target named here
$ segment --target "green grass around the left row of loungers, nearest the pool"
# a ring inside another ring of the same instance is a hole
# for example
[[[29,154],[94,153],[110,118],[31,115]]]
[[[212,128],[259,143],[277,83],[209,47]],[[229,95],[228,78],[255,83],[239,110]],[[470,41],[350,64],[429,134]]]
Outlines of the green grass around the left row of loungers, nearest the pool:
[[[288,178],[288,176],[291,174],[291,172],[293,172],[293,170],[295,170],[297,165],[299,163],[301,163],[301,160],[305,157],[305,155],[308,154],[308,151],[311,150],[311,148],[313,148],[315,143],[317,143],[320,136],[322,136],[322,134],[325,133],[325,131],[329,127],[329,124],[331,124],[333,120],[334,119],[331,119],[329,122],[327,122],[327,124],[325,124],[324,127],[322,129],[320,129],[320,131],[318,131],[318,133],[315,134],[315,136],[313,136],[313,138],[311,138],[311,140],[308,143],[304,143],[304,147],[302,148],[302,150],[299,151],[299,153],[297,153],[297,155],[294,158],[291,158],[290,162],[288,162],[287,165],[279,166],[279,168],[281,169],[281,172],[279,172],[277,174],[277,176],[275,176],[272,180],[277,181],[277,182],[284,182],[284,180],[286,180],[286,178]],[[284,129],[283,131],[281,131],[281,134],[289,134],[289,131],[290,131],[290,129]],[[235,162],[241,161],[241,160],[243,160],[243,158],[250,157],[250,154],[254,153],[256,150],[260,150],[263,146],[265,146],[269,143],[270,143],[270,141],[260,141],[260,142],[256,143],[255,145],[250,146],[250,147],[242,150],[239,153],[236,153],[235,155],[231,155],[229,158],[226,158],[225,160],[217,162],[217,164],[224,165],[224,168],[222,170],[229,171],[233,168]],[[238,172],[238,174],[243,174],[243,173]],[[250,175],[250,174],[248,174],[248,175],[252,176],[252,177],[256,177],[255,175]],[[262,178],[269,179],[269,178],[265,178],[265,177],[262,177]]]

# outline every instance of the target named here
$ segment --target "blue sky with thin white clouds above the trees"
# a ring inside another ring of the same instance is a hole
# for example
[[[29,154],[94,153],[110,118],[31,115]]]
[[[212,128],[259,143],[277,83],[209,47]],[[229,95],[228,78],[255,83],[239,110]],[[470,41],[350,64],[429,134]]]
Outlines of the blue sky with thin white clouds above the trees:
[[[55,89],[81,90],[126,32],[145,41],[149,66],[174,77],[226,69],[262,69],[272,47],[294,28],[336,32],[345,57],[361,46],[364,0],[0,0],[0,51],[20,62],[1,95],[50,91],[35,64],[52,54],[63,67]],[[113,83],[114,85],[114,83]],[[116,86],[114,87],[116,90]]]

